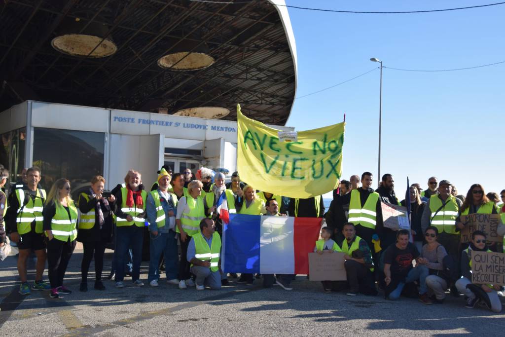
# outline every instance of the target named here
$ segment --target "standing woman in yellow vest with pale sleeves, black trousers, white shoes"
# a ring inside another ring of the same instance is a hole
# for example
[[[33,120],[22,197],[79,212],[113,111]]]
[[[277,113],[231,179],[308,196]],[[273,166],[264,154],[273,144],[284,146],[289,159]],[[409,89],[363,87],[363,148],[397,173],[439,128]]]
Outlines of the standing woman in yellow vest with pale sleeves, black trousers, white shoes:
[[[191,236],[198,233],[201,219],[205,218],[204,200],[200,197],[203,184],[193,180],[188,184],[188,197],[182,197],[177,204],[175,216],[176,232],[179,233],[181,243],[181,260],[179,263],[179,289],[194,286],[189,272],[186,255]]]

